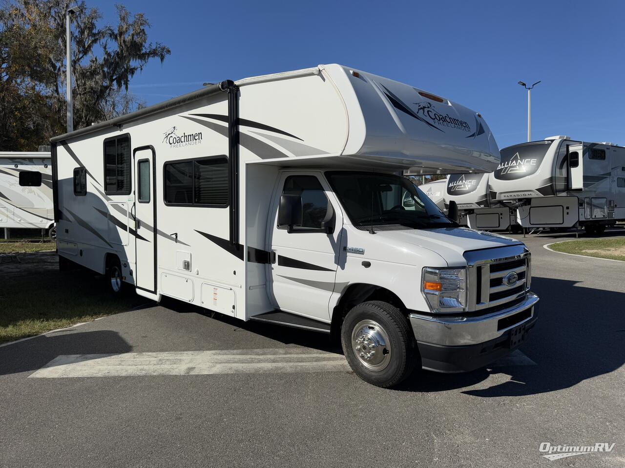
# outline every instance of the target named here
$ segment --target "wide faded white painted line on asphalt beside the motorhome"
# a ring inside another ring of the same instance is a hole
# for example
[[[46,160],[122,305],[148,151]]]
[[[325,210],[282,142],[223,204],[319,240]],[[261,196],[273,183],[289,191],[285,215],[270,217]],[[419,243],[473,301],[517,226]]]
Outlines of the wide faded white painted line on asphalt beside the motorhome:
[[[306,348],[235,349],[165,353],[69,354],[58,356],[29,377],[116,377],[348,370],[349,366],[342,354]]]

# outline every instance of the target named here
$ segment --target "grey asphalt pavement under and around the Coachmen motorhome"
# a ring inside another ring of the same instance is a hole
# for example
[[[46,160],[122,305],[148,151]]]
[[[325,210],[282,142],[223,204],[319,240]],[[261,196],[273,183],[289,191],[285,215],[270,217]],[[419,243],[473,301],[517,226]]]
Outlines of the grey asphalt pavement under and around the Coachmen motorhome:
[[[625,263],[543,248],[572,237],[524,238],[541,303],[517,359],[396,389],[322,334],[173,300],[1,346],[0,466],[625,466]]]

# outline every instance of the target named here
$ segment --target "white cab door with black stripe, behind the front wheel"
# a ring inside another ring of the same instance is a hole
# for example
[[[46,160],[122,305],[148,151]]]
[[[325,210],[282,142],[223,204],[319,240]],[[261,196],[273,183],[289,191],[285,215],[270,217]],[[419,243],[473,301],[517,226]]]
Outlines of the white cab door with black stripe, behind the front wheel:
[[[301,195],[302,226],[277,226],[281,195]],[[272,262],[269,278],[274,305],[284,311],[328,321],[328,303],[334,290],[342,215],[326,181],[317,172],[284,173],[272,206]],[[332,205],[330,205],[332,203]],[[330,209],[334,231],[322,231]]]

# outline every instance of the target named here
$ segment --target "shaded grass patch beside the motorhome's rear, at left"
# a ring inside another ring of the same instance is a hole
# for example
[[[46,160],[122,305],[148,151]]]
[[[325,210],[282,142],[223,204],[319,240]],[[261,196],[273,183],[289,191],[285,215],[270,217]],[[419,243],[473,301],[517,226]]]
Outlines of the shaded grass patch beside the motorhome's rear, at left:
[[[133,292],[115,298],[103,277],[86,271],[61,273],[56,255],[49,257],[0,265],[0,343],[127,311],[146,301]]]

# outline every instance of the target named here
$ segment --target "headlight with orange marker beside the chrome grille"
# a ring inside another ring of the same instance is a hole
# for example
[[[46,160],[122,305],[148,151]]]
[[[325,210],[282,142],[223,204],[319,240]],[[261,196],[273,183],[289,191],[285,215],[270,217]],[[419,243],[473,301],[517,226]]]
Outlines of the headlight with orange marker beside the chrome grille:
[[[466,268],[423,268],[421,291],[434,313],[464,311]]]

